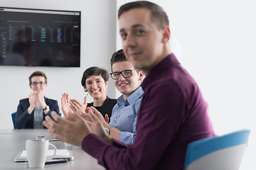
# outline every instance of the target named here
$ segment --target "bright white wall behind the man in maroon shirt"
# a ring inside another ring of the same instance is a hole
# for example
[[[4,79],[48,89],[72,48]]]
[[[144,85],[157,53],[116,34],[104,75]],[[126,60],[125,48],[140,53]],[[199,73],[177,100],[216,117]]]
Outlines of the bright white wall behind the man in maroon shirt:
[[[129,0],[117,1],[117,8]],[[171,47],[196,79],[217,135],[252,130],[241,170],[255,167],[256,1],[157,0],[171,27]],[[118,23],[117,23],[118,30]],[[117,47],[122,47],[117,31]]]

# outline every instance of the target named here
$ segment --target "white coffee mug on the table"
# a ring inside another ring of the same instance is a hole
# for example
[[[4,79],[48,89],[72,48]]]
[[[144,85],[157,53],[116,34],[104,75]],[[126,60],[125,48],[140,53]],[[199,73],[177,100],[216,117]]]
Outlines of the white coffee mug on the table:
[[[53,156],[47,157],[48,147],[54,148]],[[56,154],[56,147],[49,143],[49,140],[26,140],[26,154],[29,168],[43,168],[47,161],[53,159]]]

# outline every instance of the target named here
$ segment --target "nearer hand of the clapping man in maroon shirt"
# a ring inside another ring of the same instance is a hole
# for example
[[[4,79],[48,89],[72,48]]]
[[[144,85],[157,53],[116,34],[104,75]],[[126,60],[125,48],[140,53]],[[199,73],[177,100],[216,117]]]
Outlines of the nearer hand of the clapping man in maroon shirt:
[[[70,119],[68,120],[60,118],[56,113],[52,113],[52,117],[56,122],[46,116],[43,125],[48,128],[50,135],[55,139],[80,146],[82,140],[91,133],[91,130],[80,115],[75,113],[69,116]]]

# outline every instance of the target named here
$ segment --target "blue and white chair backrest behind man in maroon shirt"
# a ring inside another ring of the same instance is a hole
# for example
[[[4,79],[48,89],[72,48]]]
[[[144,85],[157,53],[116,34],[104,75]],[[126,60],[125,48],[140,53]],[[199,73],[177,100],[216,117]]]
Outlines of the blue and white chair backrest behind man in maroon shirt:
[[[191,142],[183,170],[238,170],[245,154],[250,130]]]

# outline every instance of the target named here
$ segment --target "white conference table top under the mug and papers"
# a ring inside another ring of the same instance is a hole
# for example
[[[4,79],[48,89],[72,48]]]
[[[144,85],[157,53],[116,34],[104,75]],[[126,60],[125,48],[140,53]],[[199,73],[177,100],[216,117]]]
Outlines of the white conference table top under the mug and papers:
[[[14,158],[18,152],[25,150],[25,141],[36,139],[37,135],[44,135],[46,138],[50,137],[48,130],[0,130],[0,169],[29,169],[24,166],[24,162],[14,162]],[[53,142],[54,145],[58,143]],[[64,147],[63,143],[60,143]],[[68,161],[60,164],[46,164],[44,169],[52,170],[80,170],[80,169],[105,169],[104,167],[97,164],[97,159],[91,157],[86,152],[82,151],[81,147],[73,146],[73,161]]]

